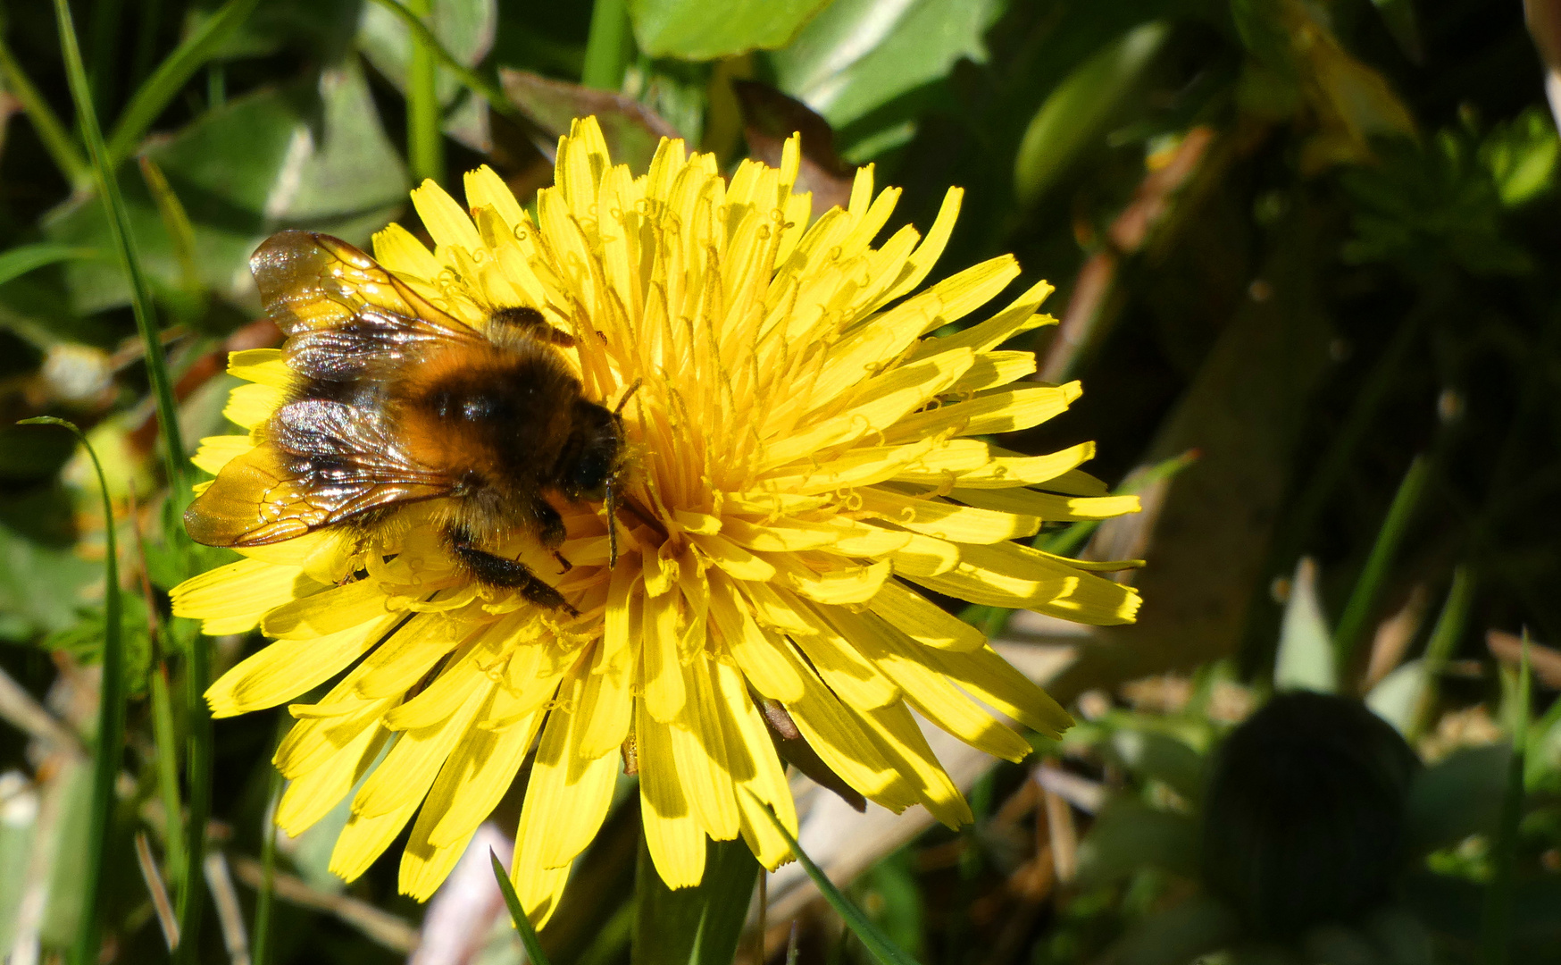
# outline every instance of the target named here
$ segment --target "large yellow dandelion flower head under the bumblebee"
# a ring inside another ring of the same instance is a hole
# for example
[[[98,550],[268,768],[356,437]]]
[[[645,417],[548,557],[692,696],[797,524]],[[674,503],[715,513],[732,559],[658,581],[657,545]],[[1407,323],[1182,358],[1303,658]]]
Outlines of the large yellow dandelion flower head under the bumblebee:
[[[796,828],[766,717],[846,784],[901,810],[969,820],[912,710],[1018,760],[1029,745],[999,710],[1044,734],[1068,715],[974,628],[910,584],[1085,623],[1133,618],[1133,590],[1013,542],[1041,523],[1136,507],[1076,467],[1091,445],[1021,456],[980,436],[1061,412],[1077,384],[1010,386],[1035,370],[999,347],[1051,323],[1038,284],[957,334],[1019,269],[996,258],[913,294],[952,230],[951,191],[926,239],[873,240],[899,195],[857,173],[849,206],[809,225],[793,194],[799,145],[779,169],[663,141],[646,175],[613,166],[595,119],[559,144],[537,217],[489,169],[467,208],[412,192],[436,247],[392,225],[379,262],[457,320],[532,306],[574,336],[560,350],[585,397],[624,409],[632,468],[609,565],[601,504],[560,504],[565,575],[535,540],[504,551],[578,611],[542,609],[470,579],[431,515],[364,540],[326,528],[187,581],[175,612],[206,632],[254,626],[275,642],[208,692],[217,715],[292,700],[345,676],[276,753],[290,781],[276,814],[297,834],[357,785],[332,870],[361,874],[412,820],[401,888],[426,898],[535,743],[514,881],[545,920],[637,756],[645,837],[671,887],[704,873],[706,839],[743,835],[766,867]],[[283,353],[237,353],[250,384],[228,408],[259,426],[292,378]],[[248,436],[206,439],[217,472]],[[350,668],[350,670],[348,670]],[[784,709],[784,714],[780,712]],[[540,740],[539,740],[540,734]],[[624,754],[620,756],[620,748]],[[632,753],[631,753],[632,750]]]

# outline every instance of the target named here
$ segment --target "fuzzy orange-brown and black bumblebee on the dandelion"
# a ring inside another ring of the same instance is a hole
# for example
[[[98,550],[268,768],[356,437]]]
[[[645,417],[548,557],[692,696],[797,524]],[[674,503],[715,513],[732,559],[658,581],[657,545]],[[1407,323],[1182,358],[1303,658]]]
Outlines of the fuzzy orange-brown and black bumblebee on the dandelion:
[[[445,543],[473,579],[571,609],[484,547],[528,531],[568,570],[548,493],[604,500],[615,536],[629,393],[617,409],[585,398],[560,354],[573,337],[537,309],[500,308],[473,328],[328,234],[275,234],[250,269],[295,378],[258,445],[186,511],[190,537],[244,548],[328,526],[367,536],[439,501]]]

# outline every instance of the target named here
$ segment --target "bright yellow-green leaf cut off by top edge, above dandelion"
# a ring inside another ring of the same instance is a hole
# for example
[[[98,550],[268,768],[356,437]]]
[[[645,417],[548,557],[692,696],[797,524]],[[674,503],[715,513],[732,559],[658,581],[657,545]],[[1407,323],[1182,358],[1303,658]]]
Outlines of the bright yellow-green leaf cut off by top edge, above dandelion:
[[[785,47],[829,0],[629,0],[634,39],[649,56],[713,61]]]

